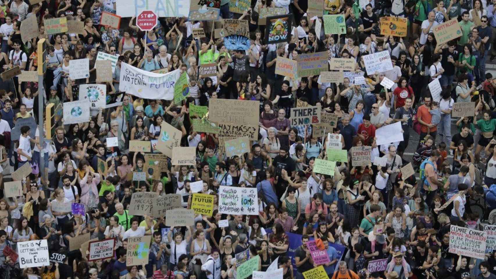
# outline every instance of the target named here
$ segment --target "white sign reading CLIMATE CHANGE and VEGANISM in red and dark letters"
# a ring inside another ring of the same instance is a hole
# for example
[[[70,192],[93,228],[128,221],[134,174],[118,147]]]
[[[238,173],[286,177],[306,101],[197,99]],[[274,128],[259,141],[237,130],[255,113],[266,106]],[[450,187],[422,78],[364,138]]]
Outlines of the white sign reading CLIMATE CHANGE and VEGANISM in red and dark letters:
[[[467,227],[450,226],[449,253],[484,260],[488,233]]]

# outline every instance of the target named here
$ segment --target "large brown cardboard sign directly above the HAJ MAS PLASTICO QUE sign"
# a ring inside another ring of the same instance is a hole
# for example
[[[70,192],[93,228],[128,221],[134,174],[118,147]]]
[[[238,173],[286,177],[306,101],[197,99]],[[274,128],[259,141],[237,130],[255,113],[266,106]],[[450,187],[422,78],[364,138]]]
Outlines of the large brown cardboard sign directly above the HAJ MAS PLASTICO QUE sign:
[[[260,102],[210,99],[208,120],[225,124],[255,125],[258,127]]]

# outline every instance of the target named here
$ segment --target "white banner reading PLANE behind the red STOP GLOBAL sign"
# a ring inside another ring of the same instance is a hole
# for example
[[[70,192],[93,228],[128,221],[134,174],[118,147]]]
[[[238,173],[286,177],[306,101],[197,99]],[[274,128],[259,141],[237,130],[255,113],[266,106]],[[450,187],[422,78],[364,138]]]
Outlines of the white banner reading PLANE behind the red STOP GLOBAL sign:
[[[159,17],[188,17],[189,1],[181,0],[118,0],[117,15],[138,16],[143,10],[151,10]]]

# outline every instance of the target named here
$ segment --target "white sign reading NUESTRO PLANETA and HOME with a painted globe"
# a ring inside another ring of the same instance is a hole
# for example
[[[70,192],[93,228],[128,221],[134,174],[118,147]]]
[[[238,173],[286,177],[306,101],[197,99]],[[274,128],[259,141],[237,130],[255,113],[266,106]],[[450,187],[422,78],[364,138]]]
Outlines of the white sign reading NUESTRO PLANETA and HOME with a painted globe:
[[[258,215],[256,188],[220,186],[219,212],[235,215]]]

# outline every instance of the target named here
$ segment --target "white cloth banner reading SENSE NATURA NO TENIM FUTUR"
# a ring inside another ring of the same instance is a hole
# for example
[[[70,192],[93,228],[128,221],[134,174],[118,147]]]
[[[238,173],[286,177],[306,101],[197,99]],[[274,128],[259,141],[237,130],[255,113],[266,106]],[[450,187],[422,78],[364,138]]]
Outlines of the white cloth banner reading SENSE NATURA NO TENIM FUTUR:
[[[181,76],[177,69],[166,74],[152,73],[121,63],[119,90],[139,98],[173,100],[174,84]]]

